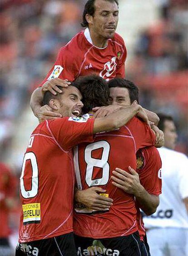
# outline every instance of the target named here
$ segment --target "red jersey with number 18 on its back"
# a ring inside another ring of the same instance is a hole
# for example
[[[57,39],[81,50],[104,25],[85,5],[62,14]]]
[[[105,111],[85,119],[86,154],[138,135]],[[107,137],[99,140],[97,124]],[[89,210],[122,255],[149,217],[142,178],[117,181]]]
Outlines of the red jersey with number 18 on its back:
[[[94,143],[84,143],[74,148],[78,188],[84,190],[101,186],[106,190],[105,196],[114,200],[110,210],[103,213],[75,208],[76,235],[97,239],[128,236],[138,230],[134,195],[113,186],[110,176],[116,167],[128,172],[129,166],[136,169],[136,151],[154,143],[153,131],[134,117],[116,131],[97,134]]]

